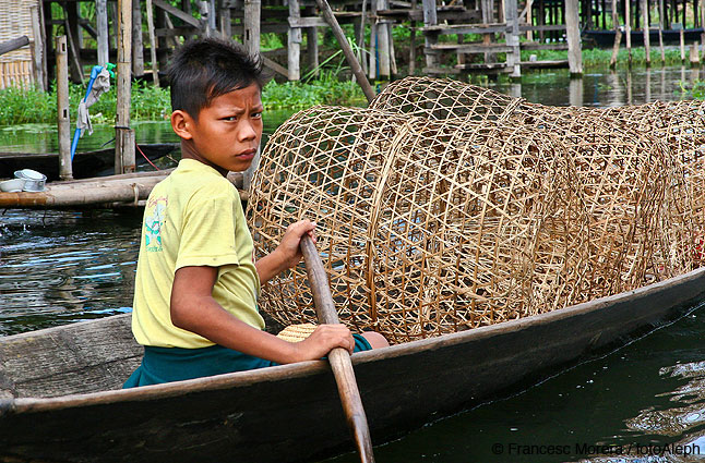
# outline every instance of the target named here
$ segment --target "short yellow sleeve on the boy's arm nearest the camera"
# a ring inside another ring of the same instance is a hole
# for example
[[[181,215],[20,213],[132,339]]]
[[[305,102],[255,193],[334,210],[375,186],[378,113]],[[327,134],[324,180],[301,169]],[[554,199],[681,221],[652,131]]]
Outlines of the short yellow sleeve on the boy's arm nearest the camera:
[[[196,193],[184,211],[175,271],[181,267],[239,265],[235,243],[234,198]]]

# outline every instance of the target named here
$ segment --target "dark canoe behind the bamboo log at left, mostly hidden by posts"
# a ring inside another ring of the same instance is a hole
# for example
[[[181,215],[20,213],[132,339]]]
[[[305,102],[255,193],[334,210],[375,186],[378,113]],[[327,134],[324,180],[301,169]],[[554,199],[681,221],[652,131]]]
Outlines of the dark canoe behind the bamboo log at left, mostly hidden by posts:
[[[178,143],[141,144],[144,156],[155,161],[179,147]],[[147,163],[146,159],[136,151],[138,166]],[[87,179],[91,176],[111,175],[115,173],[115,147],[95,151],[76,153],[73,162],[73,178]],[[33,169],[47,175],[47,180],[59,180],[59,155],[0,153],[0,179],[13,178],[20,169]]]

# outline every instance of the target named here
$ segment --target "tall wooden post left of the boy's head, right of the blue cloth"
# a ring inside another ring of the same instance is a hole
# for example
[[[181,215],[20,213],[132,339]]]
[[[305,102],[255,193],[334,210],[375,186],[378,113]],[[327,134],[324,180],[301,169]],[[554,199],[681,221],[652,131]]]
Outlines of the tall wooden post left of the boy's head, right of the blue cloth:
[[[118,0],[117,114],[115,173],[134,172],[134,132],[130,129],[132,2]]]

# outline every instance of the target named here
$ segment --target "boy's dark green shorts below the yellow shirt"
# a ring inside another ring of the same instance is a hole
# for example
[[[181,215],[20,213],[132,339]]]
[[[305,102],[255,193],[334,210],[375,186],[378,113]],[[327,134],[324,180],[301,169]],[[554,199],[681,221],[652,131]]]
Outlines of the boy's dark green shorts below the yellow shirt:
[[[355,338],[355,352],[372,349],[361,334],[352,334],[352,337]],[[217,344],[202,349],[146,345],[142,364],[128,378],[122,388],[160,385],[275,365],[278,364]]]

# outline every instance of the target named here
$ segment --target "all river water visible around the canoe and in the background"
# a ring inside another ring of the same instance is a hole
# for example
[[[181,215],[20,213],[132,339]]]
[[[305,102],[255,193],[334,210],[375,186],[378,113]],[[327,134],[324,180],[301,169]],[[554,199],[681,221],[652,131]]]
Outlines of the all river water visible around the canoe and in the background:
[[[545,105],[606,107],[680,99],[681,83],[696,78],[703,78],[701,70],[655,66],[650,72],[593,72],[582,80],[570,80],[566,70],[550,70],[525,74],[518,84],[505,78],[482,84]],[[272,133],[287,115],[266,113],[265,132]],[[135,129],[139,143],[176,141],[166,121]],[[79,149],[95,149],[112,136],[111,127],[96,127]],[[56,151],[55,139],[53,127],[0,129],[0,151]],[[140,220],[140,211],[0,211],[0,336],[129,310]],[[646,453],[656,450],[649,444],[672,442],[695,443],[705,453],[704,318],[705,308],[698,308],[541,385],[378,446],[377,460],[694,461]],[[632,446],[632,455],[585,453],[598,444],[612,453]],[[530,446],[536,452],[522,454],[533,451]],[[549,448],[567,451],[540,454]],[[352,454],[331,460],[355,461]]]

